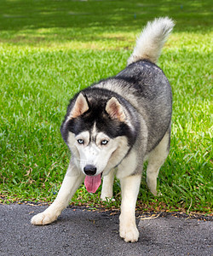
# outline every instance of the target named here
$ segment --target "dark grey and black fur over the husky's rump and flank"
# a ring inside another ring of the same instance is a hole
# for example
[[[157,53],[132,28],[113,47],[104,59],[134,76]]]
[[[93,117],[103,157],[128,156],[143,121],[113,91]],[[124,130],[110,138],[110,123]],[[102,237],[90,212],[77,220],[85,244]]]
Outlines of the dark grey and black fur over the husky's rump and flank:
[[[155,148],[170,125],[172,95],[170,83],[160,67],[151,61],[136,61],[118,73],[116,79],[134,88],[134,96],[147,113],[147,152]]]

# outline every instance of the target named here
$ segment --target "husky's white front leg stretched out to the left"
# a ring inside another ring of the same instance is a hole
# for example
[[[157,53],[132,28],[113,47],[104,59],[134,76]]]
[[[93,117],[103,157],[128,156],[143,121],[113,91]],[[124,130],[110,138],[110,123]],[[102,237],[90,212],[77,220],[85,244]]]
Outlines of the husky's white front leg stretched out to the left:
[[[45,225],[54,222],[65,209],[76,192],[80,184],[83,182],[82,172],[72,164],[72,160],[60,187],[59,194],[55,201],[44,211],[32,217],[31,223],[35,225]]]

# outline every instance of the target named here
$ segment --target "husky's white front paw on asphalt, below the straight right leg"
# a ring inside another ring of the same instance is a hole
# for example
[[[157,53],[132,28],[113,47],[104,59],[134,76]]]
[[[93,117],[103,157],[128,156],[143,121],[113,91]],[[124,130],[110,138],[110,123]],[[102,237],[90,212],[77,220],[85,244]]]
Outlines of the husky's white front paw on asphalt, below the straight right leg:
[[[121,225],[120,224],[120,237],[124,238],[124,241],[135,242],[138,241],[139,231],[135,227],[135,224]]]

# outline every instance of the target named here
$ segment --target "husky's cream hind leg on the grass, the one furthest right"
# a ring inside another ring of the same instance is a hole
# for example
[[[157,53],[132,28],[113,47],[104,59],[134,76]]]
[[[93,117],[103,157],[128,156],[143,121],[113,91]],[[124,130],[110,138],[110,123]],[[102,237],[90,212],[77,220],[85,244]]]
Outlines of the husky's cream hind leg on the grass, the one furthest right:
[[[167,131],[158,146],[148,155],[147,185],[153,195],[157,193],[157,177],[170,151],[170,130]]]

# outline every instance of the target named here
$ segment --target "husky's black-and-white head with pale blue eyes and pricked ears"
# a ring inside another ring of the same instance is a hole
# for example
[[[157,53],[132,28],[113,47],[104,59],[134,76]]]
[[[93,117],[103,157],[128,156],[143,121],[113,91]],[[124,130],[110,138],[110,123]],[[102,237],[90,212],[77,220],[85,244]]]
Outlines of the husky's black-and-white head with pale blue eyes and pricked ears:
[[[81,92],[67,108],[61,134],[85,175],[107,174],[135,141],[130,113],[116,96]]]

